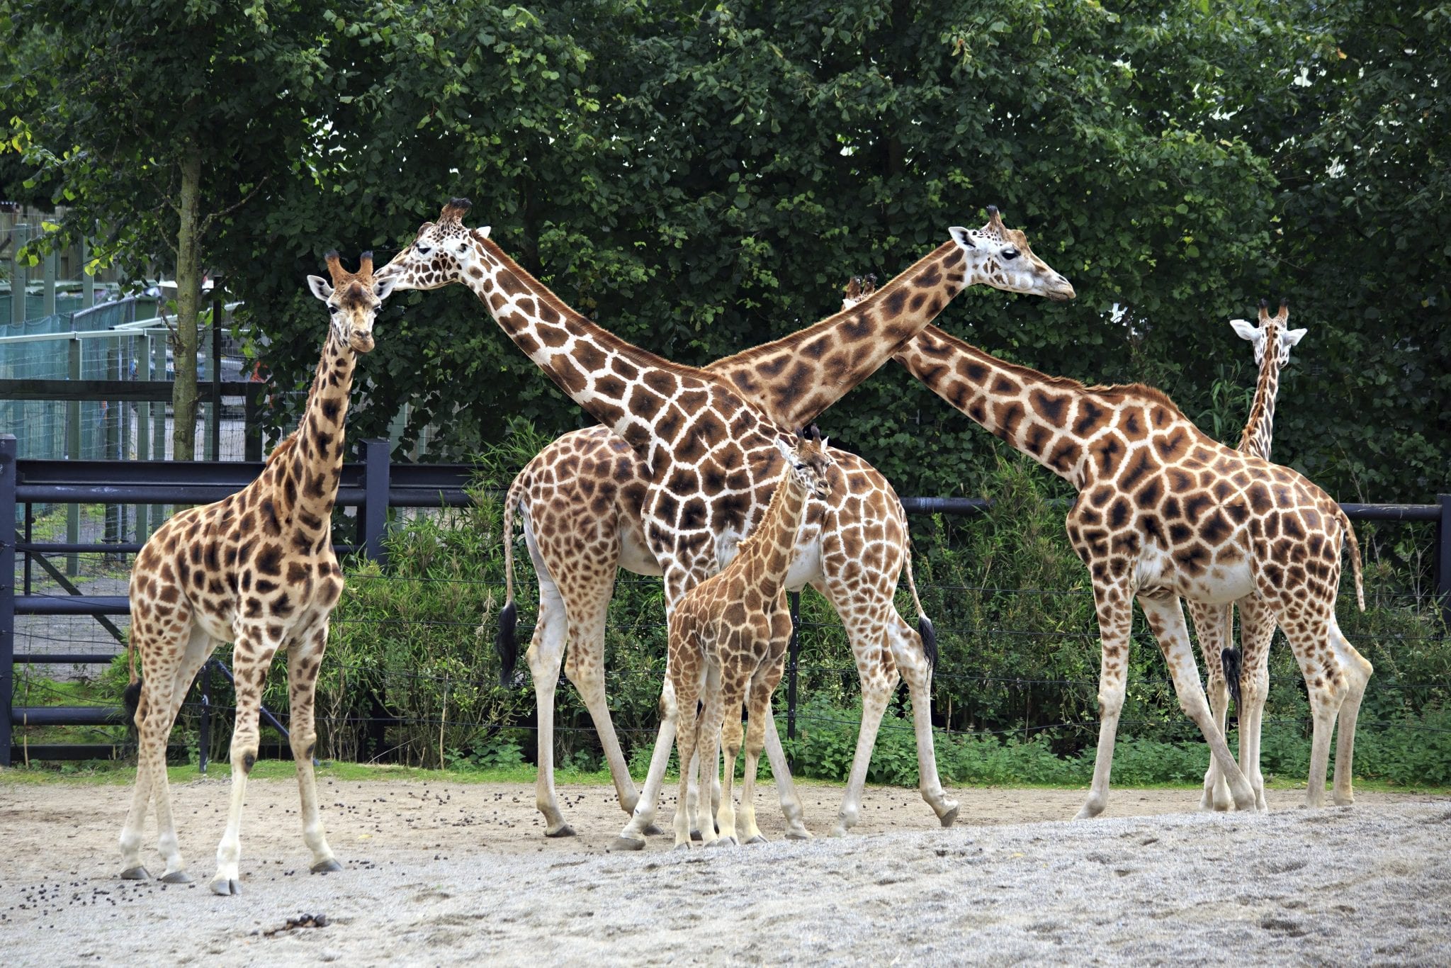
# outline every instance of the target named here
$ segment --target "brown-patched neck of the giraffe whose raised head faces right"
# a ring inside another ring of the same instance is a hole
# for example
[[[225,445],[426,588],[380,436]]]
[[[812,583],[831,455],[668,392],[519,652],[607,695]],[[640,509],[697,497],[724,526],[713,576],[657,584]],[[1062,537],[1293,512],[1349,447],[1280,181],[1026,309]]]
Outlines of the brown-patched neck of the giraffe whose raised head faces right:
[[[804,427],[881,369],[953,296],[978,282],[962,247],[949,241],[855,306],[789,337],[717,360],[707,370],[730,380],[778,427]]]

